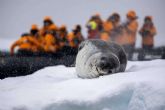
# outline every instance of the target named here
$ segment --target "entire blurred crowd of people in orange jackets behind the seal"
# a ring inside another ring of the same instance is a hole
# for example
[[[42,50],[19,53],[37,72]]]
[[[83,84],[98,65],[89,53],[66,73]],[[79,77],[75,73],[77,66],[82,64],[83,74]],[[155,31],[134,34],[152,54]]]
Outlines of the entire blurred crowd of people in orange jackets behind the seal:
[[[134,10],[126,14],[126,22],[121,23],[118,13],[112,13],[107,20],[102,20],[97,13],[89,19],[86,24],[88,29],[88,39],[102,39],[114,41],[122,45],[128,58],[132,59],[135,48],[136,35],[138,32],[138,16]],[[142,36],[142,48],[152,49],[154,46],[154,36],[156,29],[152,16],[144,18],[144,25],[140,28],[139,34]],[[81,33],[81,26],[76,25],[72,32],[68,33],[65,25],[57,26],[51,17],[45,17],[43,27],[39,29],[36,24],[31,26],[29,33],[22,34],[21,38],[11,46],[10,53],[14,54],[15,47],[19,47],[20,53],[56,53],[65,50],[65,47],[77,49],[84,40]]]

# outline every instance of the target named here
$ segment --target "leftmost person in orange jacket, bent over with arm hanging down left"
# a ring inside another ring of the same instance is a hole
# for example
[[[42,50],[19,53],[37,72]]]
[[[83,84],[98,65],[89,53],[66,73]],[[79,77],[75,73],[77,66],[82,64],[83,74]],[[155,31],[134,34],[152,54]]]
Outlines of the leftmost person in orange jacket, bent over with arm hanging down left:
[[[14,54],[15,47],[19,47],[18,53],[25,55],[25,54],[31,54],[38,52],[42,46],[37,41],[36,38],[32,37],[30,34],[25,33],[21,36],[19,40],[14,42],[10,48],[10,54]]]

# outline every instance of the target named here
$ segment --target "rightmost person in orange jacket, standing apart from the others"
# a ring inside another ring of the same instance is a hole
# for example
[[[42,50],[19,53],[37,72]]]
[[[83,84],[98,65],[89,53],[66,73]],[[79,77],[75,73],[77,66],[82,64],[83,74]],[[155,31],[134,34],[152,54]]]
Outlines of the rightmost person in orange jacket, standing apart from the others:
[[[151,51],[154,47],[154,36],[156,35],[156,28],[152,21],[151,16],[144,18],[144,24],[141,27],[139,34],[142,36],[142,48],[143,52],[139,55],[139,60],[143,60],[145,57],[145,51]]]

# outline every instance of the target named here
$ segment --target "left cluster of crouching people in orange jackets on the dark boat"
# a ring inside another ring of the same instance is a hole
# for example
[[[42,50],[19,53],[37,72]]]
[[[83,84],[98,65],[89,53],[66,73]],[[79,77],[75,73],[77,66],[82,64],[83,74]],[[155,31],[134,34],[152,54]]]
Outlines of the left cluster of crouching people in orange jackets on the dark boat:
[[[63,51],[65,47],[76,49],[83,40],[80,25],[76,25],[72,32],[68,33],[65,25],[58,27],[51,17],[46,16],[43,27],[39,29],[36,24],[33,24],[30,32],[22,34],[12,44],[10,53],[13,55],[16,47],[19,48],[18,53],[24,55],[56,53]]]

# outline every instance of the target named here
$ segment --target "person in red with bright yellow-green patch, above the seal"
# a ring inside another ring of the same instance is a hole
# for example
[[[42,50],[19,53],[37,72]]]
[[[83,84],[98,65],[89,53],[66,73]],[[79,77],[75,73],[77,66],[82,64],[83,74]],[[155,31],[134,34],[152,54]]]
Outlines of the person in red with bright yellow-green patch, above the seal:
[[[100,31],[98,29],[98,25],[95,21],[90,21],[86,25],[88,29],[88,39],[99,39],[100,38]]]

